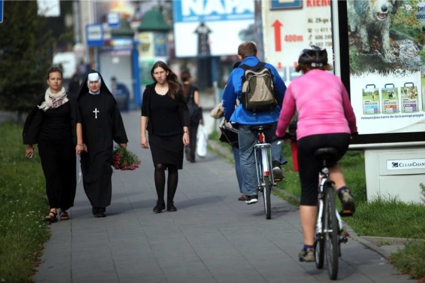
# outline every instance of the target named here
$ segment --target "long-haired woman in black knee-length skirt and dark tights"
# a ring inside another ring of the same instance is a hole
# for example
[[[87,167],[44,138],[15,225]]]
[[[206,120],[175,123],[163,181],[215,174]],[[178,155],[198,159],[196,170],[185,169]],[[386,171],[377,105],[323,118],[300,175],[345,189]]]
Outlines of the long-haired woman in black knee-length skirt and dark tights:
[[[182,86],[176,74],[162,61],[151,70],[154,83],[146,86],[140,118],[140,144],[149,148],[155,166],[155,187],[158,200],[154,212],[165,209],[165,169],[167,179],[167,211],[177,211],[174,195],[179,179],[178,169],[183,168],[183,149],[189,144],[189,110]]]

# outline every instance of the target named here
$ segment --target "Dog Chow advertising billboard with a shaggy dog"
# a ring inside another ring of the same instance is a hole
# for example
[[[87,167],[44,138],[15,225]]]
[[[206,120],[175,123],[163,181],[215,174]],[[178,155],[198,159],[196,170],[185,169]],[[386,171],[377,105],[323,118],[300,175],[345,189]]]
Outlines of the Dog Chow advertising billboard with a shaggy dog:
[[[359,130],[352,143],[425,144],[425,2],[333,3],[335,69]]]

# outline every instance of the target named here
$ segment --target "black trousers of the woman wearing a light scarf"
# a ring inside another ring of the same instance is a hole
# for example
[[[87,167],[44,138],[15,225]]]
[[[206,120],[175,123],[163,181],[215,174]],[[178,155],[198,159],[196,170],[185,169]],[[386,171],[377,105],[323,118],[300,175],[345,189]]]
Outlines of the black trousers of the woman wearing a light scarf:
[[[50,208],[67,210],[74,205],[77,185],[75,145],[71,138],[38,142]]]

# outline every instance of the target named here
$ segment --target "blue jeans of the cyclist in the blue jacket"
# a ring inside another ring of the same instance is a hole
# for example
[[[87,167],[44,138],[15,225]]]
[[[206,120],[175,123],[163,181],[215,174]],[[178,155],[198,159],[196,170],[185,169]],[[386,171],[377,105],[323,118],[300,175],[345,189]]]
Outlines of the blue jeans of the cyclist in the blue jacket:
[[[281,156],[283,142],[277,141],[274,134],[276,132],[276,125],[277,123],[274,123],[273,127],[265,132],[266,142],[270,143],[271,160],[285,164],[288,161]],[[254,156],[254,144],[258,138],[255,132],[251,132],[250,127],[239,125],[238,128],[239,157],[243,179],[242,192],[244,195],[258,194],[257,170],[255,168]]]

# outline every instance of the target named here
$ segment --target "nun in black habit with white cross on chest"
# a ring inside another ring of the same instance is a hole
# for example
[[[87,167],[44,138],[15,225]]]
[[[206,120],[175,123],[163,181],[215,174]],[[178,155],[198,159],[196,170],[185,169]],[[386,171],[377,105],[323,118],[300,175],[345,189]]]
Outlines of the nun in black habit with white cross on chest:
[[[99,72],[91,70],[77,93],[77,153],[84,191],[96,217],[105,217],[112,196],[113,141],[127,147],[117,103]]]

